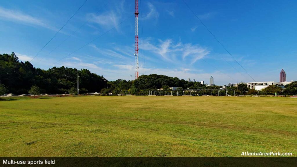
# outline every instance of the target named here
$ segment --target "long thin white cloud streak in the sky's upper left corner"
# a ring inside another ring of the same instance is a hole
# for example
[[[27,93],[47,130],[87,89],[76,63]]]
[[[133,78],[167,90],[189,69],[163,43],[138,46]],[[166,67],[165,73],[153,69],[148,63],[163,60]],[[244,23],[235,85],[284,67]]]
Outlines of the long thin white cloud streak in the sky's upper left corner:
[[[4,9],[0,7],[0,19],[13,21],[17,23],[23,23],[30,26],[41,26],[47,29],[57,31],[56,28],[49,26],[44,21],[39,18],[33,17],[31,15],[25,14],[18,10]]]

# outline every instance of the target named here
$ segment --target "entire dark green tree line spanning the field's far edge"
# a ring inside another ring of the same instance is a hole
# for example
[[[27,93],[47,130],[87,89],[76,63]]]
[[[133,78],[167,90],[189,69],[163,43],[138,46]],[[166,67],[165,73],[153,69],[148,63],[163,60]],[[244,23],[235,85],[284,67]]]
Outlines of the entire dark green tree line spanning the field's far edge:
[[[32,92],[32,86],[37,86],[38,91],[48,94],[75,94],[77,81],[79,82],[79,92],[101,92],[102,94],[133,94],[148,95],[152,89],[168,89],[178,87],[178,89],[219,89],[222,86],[206,86],[200,82],[189,82],[177,77],[166,75],[141,75],[137,80],[126,81],[118,79],[108,81],[102,75],[91,73],[87,69],[78,70],[68,67],[52,67],[48,70],[35,68],[26,61],[20,62],[15,53],[0,54],[0,94],[6,92],[12,94],[27,94]],[[78,77],[79,76],[79,77]],[[36,87],[34,87],[37,89]],[[246,83],[239,83],[238,86],[227,87],[228,90],[234,89],[236,95],[249,94],[297,94],[297,82],[285,86],[286,89],[271,85],[256,91],[249,89]],[[164,92],[163,92],[164,93]],[[189,93],[189,92],[187,92]],[[200,94],[202,92],[199,92]],[[204,91],[205,94],[217,95],[218,91]],[[222,91],[224,94],[233,94],[233,90]],[[176,94],[175,94],[176,95]]]

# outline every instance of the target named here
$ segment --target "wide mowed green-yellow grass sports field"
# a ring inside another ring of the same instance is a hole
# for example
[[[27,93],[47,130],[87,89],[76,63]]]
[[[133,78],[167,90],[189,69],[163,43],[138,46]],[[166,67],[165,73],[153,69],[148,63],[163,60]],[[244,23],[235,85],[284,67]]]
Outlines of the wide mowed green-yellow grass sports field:
[[[297,99],[78,96],[0,101],[0,157],[297,156]]]

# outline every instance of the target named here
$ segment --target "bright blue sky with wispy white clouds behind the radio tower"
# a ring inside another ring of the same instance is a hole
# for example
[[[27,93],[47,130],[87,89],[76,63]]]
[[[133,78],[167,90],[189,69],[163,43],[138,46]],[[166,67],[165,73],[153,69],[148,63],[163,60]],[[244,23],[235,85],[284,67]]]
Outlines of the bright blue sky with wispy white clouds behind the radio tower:
[[[30,61],[84,1],[1,0],[0,53]],[[297,80],[297,1],[185,1],[256,81],[279,81],[282,68],[287,81]],[[212,75],[217,85],[252,81],[182,0],[140,3],[140,75],[206,83]],[[134,61],[134,1],[88,0],[31,63],[129,80]]]

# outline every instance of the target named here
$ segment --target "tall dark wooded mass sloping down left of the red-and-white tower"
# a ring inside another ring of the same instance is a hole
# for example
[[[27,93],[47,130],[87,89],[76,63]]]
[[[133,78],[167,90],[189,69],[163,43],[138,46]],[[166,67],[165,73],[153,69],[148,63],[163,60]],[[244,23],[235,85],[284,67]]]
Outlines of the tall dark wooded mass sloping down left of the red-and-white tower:
[[[79,77],[78,77],[79,75]],[[79,81],[80,93],[100,92],[105,78],[87,69],[52,67],[48,70],[35,68],[26,61],[19,61],[15,53],[0,54],[1,84],[12,94],[28,94],[31,86],[40,87],[41,93],[62,94],[69,92]]]

